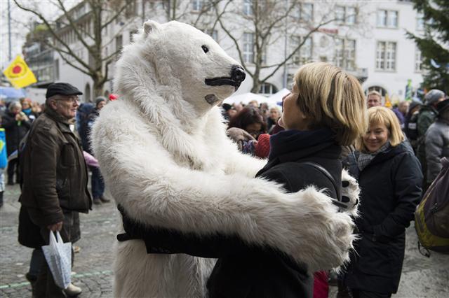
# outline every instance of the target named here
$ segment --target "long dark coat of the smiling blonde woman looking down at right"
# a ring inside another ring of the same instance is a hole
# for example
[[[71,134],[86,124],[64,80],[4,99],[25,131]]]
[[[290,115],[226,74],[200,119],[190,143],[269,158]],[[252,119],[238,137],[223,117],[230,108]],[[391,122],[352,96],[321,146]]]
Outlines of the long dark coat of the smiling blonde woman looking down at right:
[[[344,276],[351,289],[396,293],[401,278],[406,227],[421,199],[420,162],[406,141],[380,152],[358,171],[356,156],[348,156],[349,172],[358,176],[361,204],[356,219],[361,239]]]

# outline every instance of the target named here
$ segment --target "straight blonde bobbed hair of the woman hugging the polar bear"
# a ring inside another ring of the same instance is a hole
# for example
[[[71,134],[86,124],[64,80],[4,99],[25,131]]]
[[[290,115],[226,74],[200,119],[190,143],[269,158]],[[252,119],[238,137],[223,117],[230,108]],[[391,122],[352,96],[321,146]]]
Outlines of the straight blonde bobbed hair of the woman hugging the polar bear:
[[[298,69],[295,84],[297,105],[309,119],[309,128],[329,127],[342,146],[365,134],[366,99],[354,76],[332,64],[313,62]]]

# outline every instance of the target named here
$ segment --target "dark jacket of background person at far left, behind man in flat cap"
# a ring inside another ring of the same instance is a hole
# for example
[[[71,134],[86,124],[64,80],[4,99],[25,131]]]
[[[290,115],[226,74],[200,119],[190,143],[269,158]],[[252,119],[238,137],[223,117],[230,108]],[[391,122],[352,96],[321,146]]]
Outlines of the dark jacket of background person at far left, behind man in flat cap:
[[[27,134],[31,123],[29,121],[16,121],[15,114],[5,113],[1,119],[1,126],[6,134],[6,152],[11,155],[19,148],[20,140]]]

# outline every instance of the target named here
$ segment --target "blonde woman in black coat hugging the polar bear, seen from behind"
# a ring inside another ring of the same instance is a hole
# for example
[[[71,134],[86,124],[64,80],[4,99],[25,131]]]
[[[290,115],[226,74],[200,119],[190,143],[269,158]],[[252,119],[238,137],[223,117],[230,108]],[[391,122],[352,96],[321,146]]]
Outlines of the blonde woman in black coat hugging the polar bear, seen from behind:
[[[315,185],[337,199],[342,184],[340,147],[366,132],[366,119],[366,100],[356,78],[331,64],[302,66],[292,92],[283,100],[280,125],[286,130],[271,136],[268,163],[256,177],[281,183],[287,192]],[[200,237],[152,227],[142,231],[126,214],[123,226],[126,236],[119,235],[122,240],[144,239],[166,252],[217,258],[208,279],[209,297],[312,296],[314,281],[309,269],[276,247],[249,245],[229,235]],[[316,236],[320,237],[320,231]]]

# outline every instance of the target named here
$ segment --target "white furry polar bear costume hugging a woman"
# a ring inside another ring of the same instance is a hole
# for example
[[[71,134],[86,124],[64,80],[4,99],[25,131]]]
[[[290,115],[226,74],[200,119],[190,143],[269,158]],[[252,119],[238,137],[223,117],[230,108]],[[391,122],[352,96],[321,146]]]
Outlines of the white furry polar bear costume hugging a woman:
[[[254,178],[266,161],[241,154],[225,135],[217,104],[239,87],[235,69],[239,63],[194,27],[145,22],[117,62],[119,100],[93,126],[105,183],[130,218],[145,225],[236,234],[310,271],[340,266],[354,240],[349,214],[337,213],[313,186],[286,193]],[[355,200],[354,179],[350,189]],[[140,240],[117,243],[114,297],[205,297],[214,264],[147,254]]]

